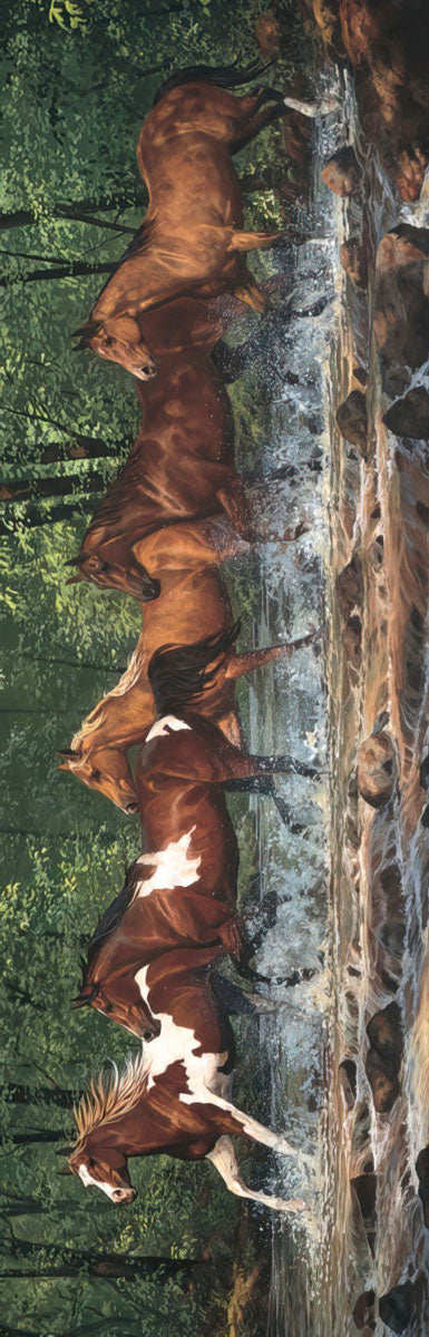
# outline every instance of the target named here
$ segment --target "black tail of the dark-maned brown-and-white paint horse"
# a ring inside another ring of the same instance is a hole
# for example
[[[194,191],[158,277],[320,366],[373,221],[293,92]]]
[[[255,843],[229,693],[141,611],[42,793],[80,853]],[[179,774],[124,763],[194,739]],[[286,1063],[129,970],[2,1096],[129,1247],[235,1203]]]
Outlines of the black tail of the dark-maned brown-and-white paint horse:
[[[148,666],[156,713],[174,715],[198,701],[225,667],[239,632],[239,622],[192,646],[160,646]],[[221,660],[221,662],[219,662]],[[211,666],[211,667],[210,667]]]

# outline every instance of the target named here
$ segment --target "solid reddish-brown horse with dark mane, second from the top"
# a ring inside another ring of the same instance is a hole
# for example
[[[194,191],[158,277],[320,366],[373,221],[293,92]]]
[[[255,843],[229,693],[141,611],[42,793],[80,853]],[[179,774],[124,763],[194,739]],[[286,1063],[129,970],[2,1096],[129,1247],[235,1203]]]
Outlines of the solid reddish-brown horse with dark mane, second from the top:
[[[210,354],[188,349],[166,356],[139,398],[139,436],[69,564],[78,566],[78,580],[143,600],[156,598],[159,580],[138,560],[136,544],[175,524],[178,554],[178,524],[225,513],[223,508],[243,524],[245,509],[234,468],[233,410]],[[176,564],[184,566],[186,556]]]

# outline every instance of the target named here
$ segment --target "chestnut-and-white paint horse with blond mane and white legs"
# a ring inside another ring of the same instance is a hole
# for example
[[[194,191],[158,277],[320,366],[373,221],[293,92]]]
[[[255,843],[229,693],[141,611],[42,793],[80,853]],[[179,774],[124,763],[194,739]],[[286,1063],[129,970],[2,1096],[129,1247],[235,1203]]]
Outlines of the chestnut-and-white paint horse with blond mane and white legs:
[[[115,1064],[92,1080],[75,1108],[78,1142],[63,1148],[68,1170],[86,1189],[96,1187],[114,1205],[132,1202],[136,1190],[128,1157],[170,1155],[211,1161],[231,1193],[281,1211],[301,1211],[301,1198],[273,1198],[243,1183],[231,1134],[242,1134],[282,1155],[307,1159],[285,1136],[238,1110],[230,1098],[229,1036],[207,985],[198,973],[178,985],[166,977],[163,1005],[171,995],[180,1020],[168,1019],[143,1054]]]

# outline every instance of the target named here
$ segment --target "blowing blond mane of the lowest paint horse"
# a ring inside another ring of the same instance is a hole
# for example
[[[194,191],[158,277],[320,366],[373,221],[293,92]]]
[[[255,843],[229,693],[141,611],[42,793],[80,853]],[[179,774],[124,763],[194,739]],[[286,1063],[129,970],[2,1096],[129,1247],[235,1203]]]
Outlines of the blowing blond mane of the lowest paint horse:
[[[90,1132],[99,1128],[102,1123],[115,1123],[134,1108],[146,1090],[150,1063],[150,1055],[143,1048],[142,1054],[130,1055],[122,1071],[116,1063],[111,1063],[108,1068],[102,1070],[98,1078],[90,1079],[88,1090],[74,1106],[78,1127],[74,1155],[82,1151]]]

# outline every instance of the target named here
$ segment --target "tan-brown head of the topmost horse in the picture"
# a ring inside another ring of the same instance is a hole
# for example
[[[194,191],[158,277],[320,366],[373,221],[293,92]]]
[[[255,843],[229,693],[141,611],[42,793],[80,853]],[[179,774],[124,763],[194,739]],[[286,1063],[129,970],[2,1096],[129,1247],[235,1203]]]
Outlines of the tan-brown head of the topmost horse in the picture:
[[[72,338],[79,340],[74,353],[91,348],[108,362],[119,362],[138,381],[150,381],[156,376],[158,361],[132,316],[111,316],[103,321],[90,318],[86,325],[74,330]]]

